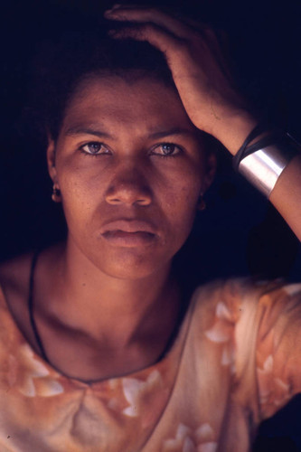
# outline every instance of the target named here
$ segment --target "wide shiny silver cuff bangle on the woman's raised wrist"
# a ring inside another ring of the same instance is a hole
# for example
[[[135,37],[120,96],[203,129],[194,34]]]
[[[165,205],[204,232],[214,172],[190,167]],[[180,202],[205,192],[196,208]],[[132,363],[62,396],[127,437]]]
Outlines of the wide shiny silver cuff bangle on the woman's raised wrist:
[[[290,160],[299,154],[296,141],[288,135],[287,138],[289,139],[262,147],[240,161],[238,168],[240,174],[267,198],[275,187],[279,175]]]

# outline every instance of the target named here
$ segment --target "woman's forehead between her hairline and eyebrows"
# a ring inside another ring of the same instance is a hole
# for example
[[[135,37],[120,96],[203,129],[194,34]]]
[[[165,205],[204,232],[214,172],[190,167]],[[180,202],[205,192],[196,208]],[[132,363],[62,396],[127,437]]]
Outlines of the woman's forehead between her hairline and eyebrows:
[[[93,77],[80,83],[65,112],[62,129],[103,124],[132,133],[184,127],[196,133],[174,89],[152,78]]]

